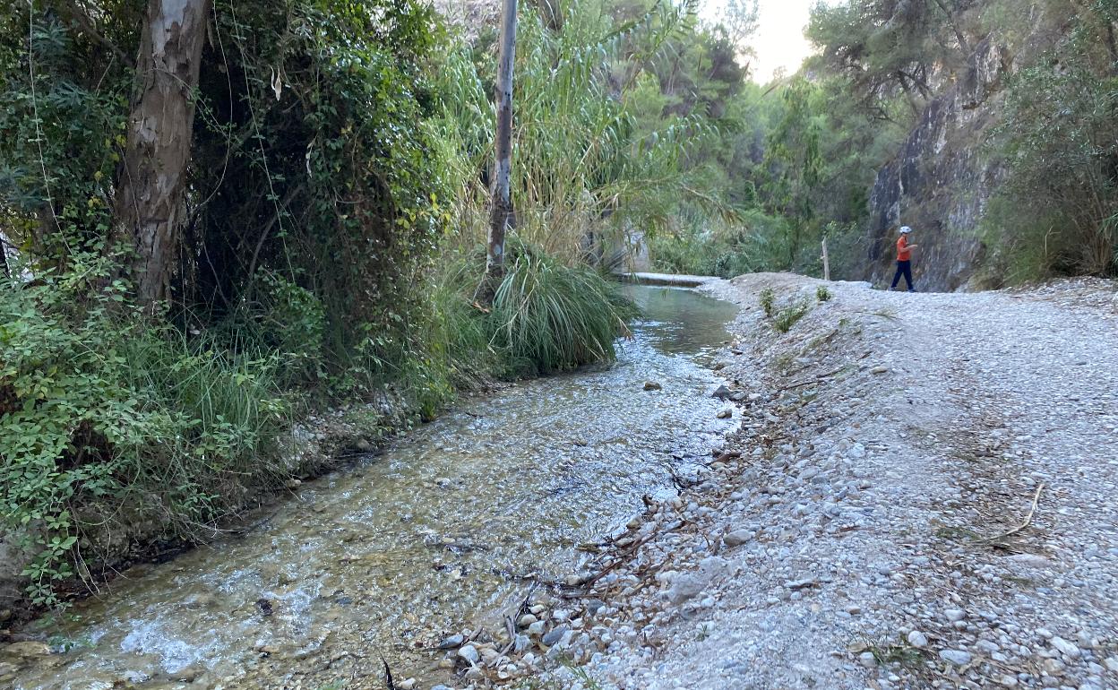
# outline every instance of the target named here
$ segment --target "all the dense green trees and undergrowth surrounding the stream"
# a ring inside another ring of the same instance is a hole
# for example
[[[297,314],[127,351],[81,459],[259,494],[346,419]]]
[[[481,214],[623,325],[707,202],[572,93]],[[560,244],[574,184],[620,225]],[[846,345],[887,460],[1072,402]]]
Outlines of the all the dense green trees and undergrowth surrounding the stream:
[[[1017,68],[974,144],[1004,185],[970,230],[1011,281],[1116,270],[1116,0],[821,3],[818,55],[764,86],[749,0],[713,26],[690,3],[522,7],[492,303],[494,22],[189,0],[197,84],[162,94],[192,113],[168,152],[130,124],[158,4],[0,8],[0,516],[40,604],[313,472],[287,447],[309,410],[387,397],[429,418],[486,379],[609,359],[632,311],[603,273],[634,249],[818,274],[826,238],[832,274],[861,277],[878,169],[983,40]],[[136,190],[157,155],[187,160],[152,242]]]

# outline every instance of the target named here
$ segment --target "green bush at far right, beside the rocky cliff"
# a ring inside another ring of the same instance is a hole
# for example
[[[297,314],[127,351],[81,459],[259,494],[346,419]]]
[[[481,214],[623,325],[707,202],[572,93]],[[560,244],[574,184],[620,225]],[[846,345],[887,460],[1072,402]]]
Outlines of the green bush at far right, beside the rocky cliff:
[[[1007,282],[1118,271],[1118,56],[1103,49],[1116,3],[1014,76],[998,130],[1006,182],[984,220]]]

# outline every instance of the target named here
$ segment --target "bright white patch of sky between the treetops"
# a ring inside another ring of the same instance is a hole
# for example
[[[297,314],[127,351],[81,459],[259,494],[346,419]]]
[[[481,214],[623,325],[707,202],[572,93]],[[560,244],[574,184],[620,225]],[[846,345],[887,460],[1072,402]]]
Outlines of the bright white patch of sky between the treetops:
[[[702,0],[699,16],[707,21],[718,21],[724,7],[723,0]],[[777,68],[796,72],[812,45],[804,38],[808,10],[816,0],[760,0],[759,27],[754,38],[757,59],[752,64],[752,78],[766,83]]]

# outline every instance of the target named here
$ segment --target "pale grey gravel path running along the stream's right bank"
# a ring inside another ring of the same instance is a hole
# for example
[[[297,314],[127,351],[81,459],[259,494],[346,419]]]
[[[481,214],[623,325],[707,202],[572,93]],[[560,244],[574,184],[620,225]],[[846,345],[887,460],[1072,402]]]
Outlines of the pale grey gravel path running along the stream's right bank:
[[[818,285],[708,287],[742,429],[615,540],[552,680],[1118,689],[1118,285]],[[765,287],[811,304],[785,334]]]

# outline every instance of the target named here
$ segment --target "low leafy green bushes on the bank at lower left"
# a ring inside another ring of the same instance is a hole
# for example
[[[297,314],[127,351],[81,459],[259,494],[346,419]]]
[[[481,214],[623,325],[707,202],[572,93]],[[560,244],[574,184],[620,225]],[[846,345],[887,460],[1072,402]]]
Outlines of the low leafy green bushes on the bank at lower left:
[[[37,284],[0,285],[0,512],[35,558],[32,603],[55,604],[79,552],[145,521],[190,537],[265,481],[285,426],[275,353],[215,350],[129,306],[100,252]],[[115,538],[121,538],[116,535]]]

